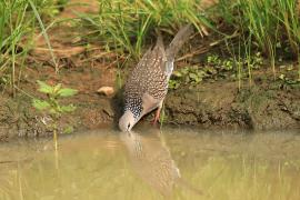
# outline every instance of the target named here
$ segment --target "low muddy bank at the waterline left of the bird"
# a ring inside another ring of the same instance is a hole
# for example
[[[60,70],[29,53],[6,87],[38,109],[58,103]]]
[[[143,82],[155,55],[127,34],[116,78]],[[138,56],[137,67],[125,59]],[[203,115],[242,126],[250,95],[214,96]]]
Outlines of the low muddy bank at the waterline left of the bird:
[[[78,102],[77,110],[72,114],[64,114],[59,121],[60,132],[67,126],[71,126],[74,131],[110,126],[113,121],[113,111],[110,103],[107,98],[99,98],[93,103],[89,100]],[[52,136],[52,130],[48,126],[50,122],[49,116],[33,109],[31,100],[28,98],[22,96],[14,99],[0,98],[0,141],[9,141],[17,137]]]

